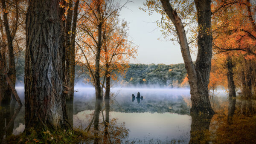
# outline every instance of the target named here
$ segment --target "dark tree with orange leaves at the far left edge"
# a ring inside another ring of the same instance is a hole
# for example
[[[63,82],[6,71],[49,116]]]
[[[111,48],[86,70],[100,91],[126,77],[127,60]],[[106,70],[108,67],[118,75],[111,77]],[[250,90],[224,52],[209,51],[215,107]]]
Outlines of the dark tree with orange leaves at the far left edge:
[[[0,98],[2,97],[1,99],[5,100],[10,100],[12,95],[11,87],[6,84],[7,80],[5,78],[5,74],[7,74],[7,76],[10,78],[14,86],[16,82],[15,54],[20,51],[19,45],[22,43],[16,34],[20,30],[19,26],[23,24],[22,8],[20,6],[22,3],[23,0],[1,0],[0,5],[2,11],[0,18],[0,63],[2,71],[0,74]],[[13,41],[15,41],[17,44],[13,44]],[[6,47],[8,47],[8,51],[6,51]],[[15,97],[12,98],[15,99]]]

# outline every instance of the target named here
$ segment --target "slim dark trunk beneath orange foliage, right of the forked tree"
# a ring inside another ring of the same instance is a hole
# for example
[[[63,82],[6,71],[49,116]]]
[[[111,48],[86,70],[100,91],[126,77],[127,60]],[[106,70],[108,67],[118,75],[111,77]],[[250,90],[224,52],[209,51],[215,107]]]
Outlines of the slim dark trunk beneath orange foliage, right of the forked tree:
[[[227,58],[227,84],[229,97],[236,97],[235,84],[233,80],[233,64],[231,58]]]

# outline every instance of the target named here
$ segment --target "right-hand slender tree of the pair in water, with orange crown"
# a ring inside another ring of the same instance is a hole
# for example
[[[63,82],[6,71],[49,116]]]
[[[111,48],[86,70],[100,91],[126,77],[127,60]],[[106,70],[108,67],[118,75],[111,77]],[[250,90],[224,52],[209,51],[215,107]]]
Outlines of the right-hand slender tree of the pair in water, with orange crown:
[[[117,80],[117,74],[123,75],[128,69],[129,59],[135,58],[137,49],[132,45],[130,41],[127,40],[128,29],[126,22],[119,24],[119,19],[117,15],[110,17],[111,23],[105,28],[105,35],[103,36],[103,53],[102,62],[104,67],[104,79],[103,84],[106,79],[105,84],[105,107],[106,107],[106,129],[109,124],[109,109],[110,109],[110,87],[111,78],[112,80]],[[116,19],[116,20],[114,20]],[[115,23],[113,23],[115,22]],[[119,26],[120,25],[120,26]],[[108,29],[108,30],[107,30]],[[143,79],[145,80],[145,79]],[[146,80],[145,80],[146,81]]]

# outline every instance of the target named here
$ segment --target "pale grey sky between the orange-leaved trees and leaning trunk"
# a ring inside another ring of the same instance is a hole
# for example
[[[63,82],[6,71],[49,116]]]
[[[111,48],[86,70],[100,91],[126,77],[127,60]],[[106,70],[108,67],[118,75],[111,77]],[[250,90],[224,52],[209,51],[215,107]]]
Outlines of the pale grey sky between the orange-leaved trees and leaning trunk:
[[[144,64],[177,64],[184,63],[178,43],[173,44],[172,41],[166,41],[161,38],[162,32],[154,23],[161,19],[160,14],[148,15],[148,12],[143,12],[139,9],[143,6],[145,0],[132,0],[132,3],[126,5],[127,8],[122,8],[120,18],[128,22],[129,39],[137,46],[137,58],[131,59],[130,63]],[[121,4],[126,0],[121,0]],[[192,60],[196,59],[194,54],[191,54]]]

